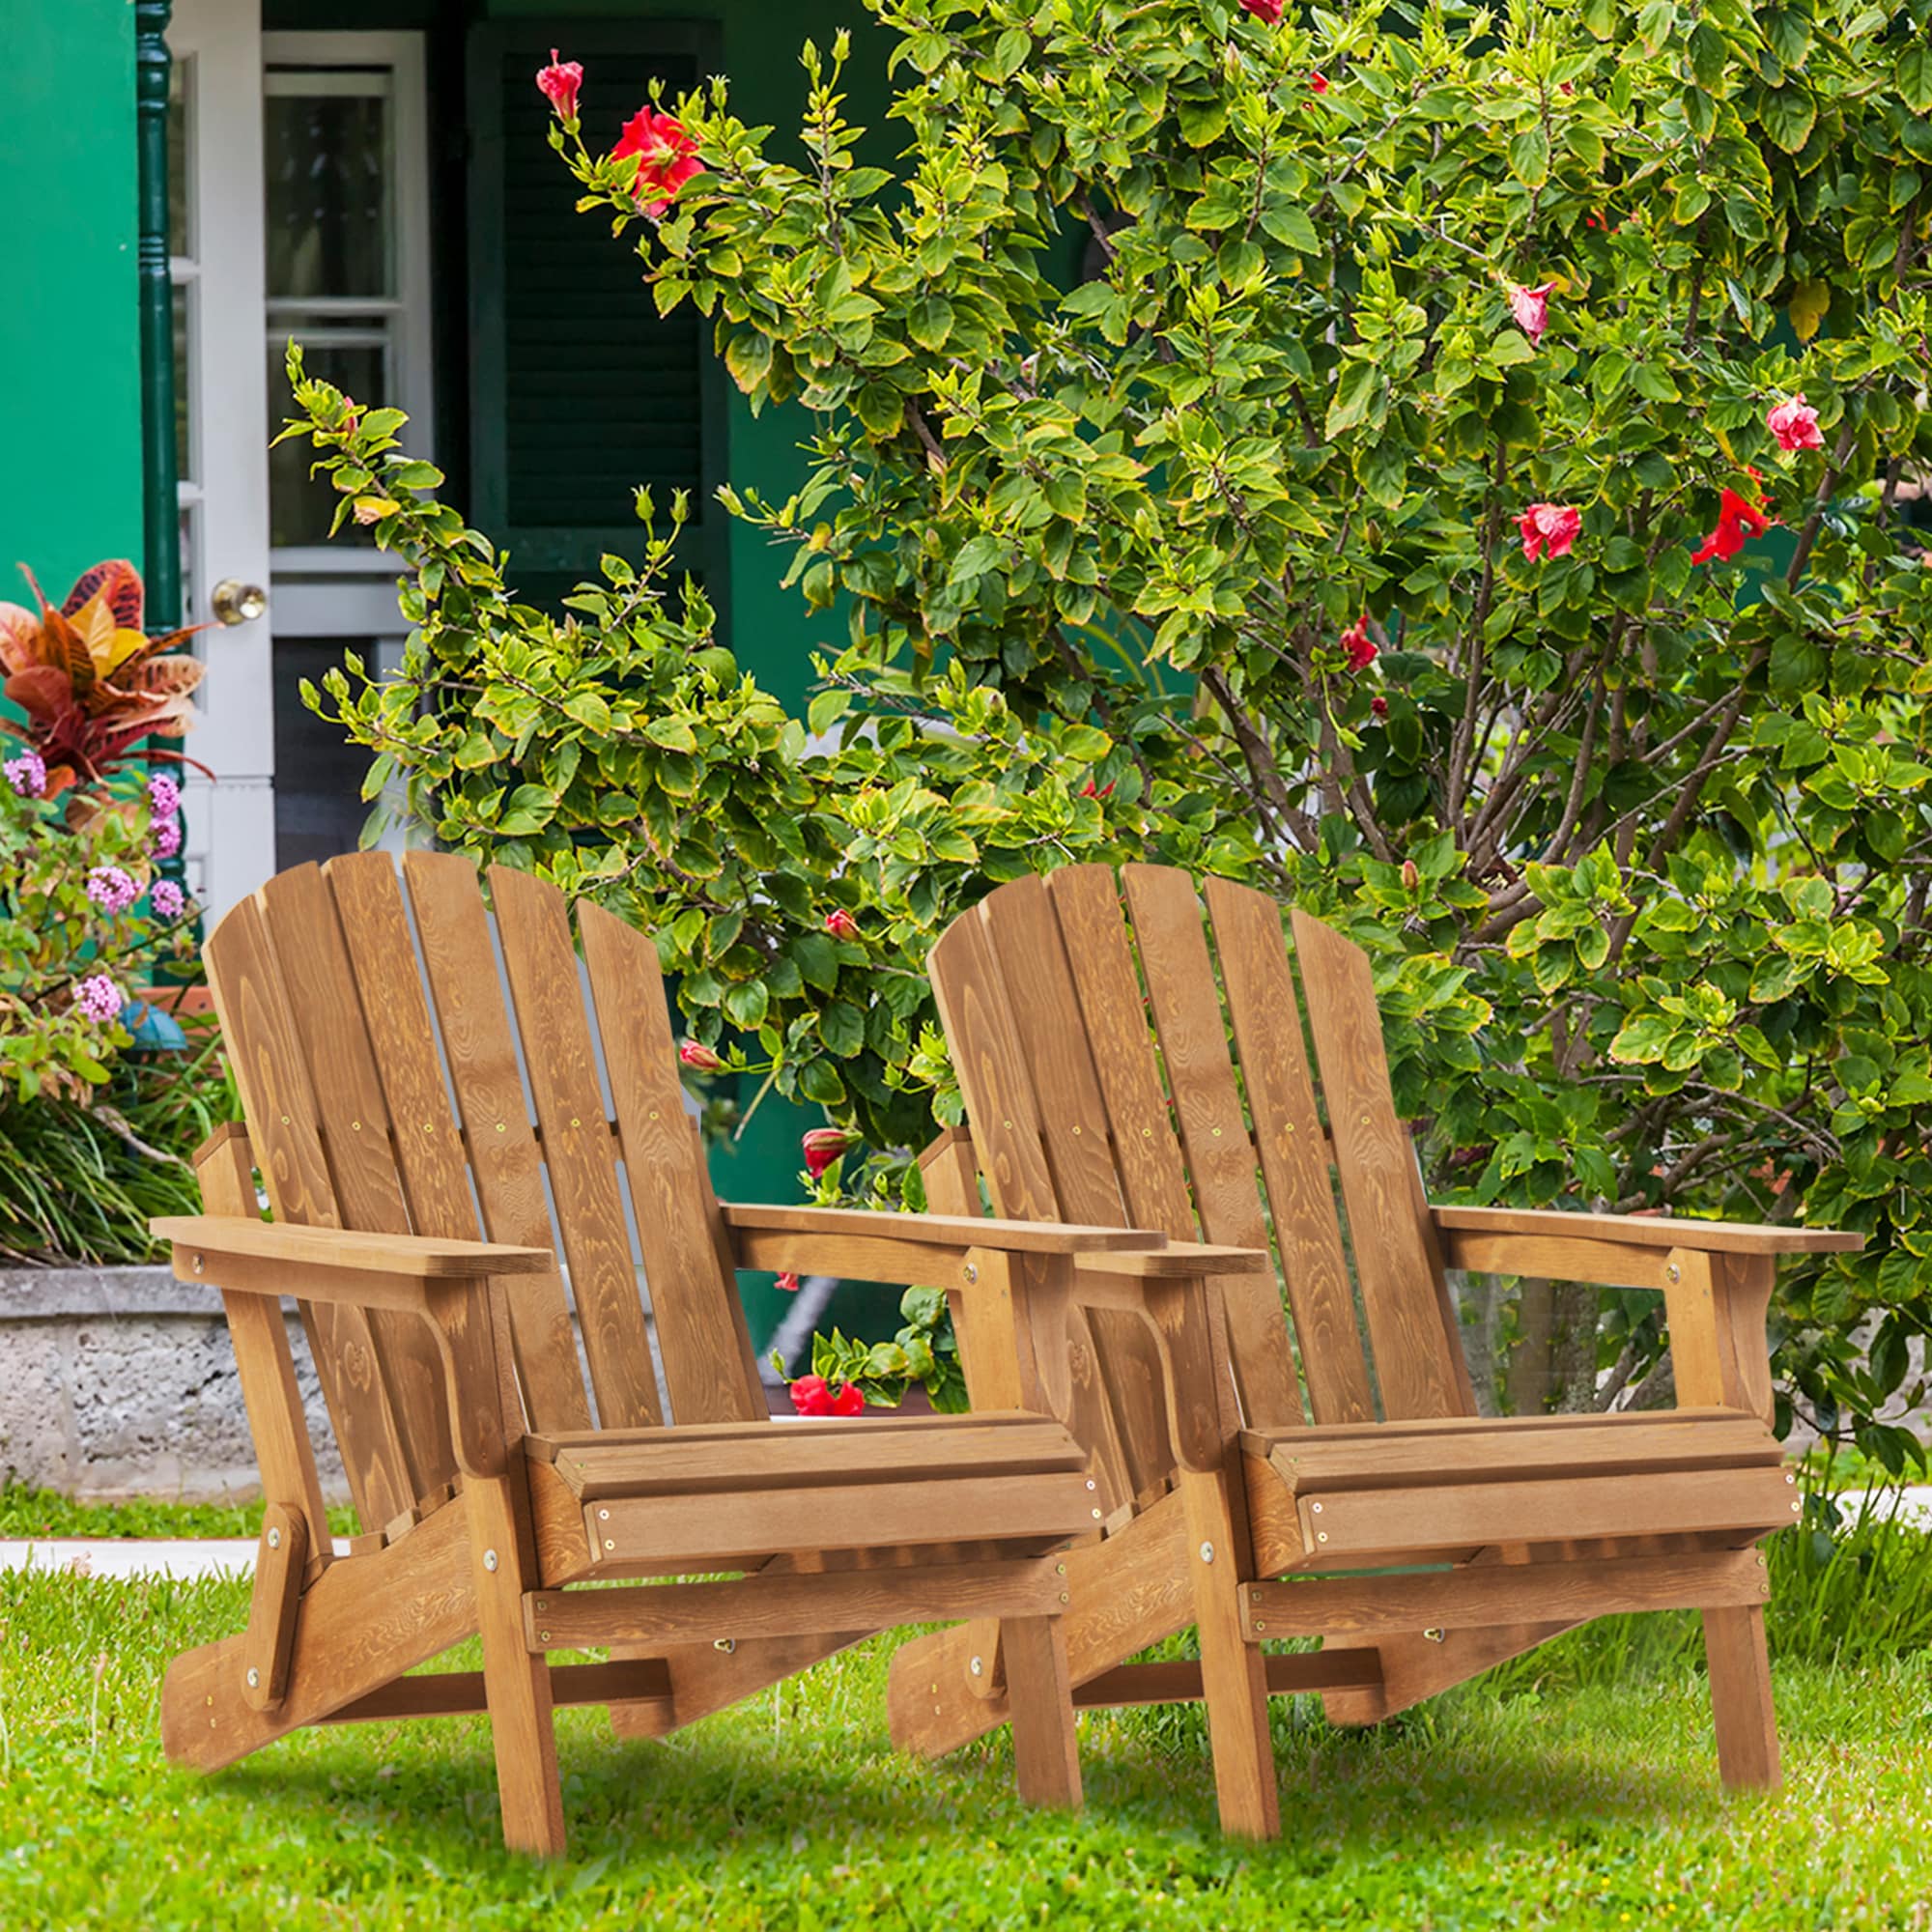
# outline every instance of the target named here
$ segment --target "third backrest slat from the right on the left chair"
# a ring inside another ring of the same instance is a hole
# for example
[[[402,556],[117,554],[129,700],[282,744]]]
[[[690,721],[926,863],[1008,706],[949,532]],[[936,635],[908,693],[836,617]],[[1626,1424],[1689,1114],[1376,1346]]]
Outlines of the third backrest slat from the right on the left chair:
[[[390,871],[386,856],[369,858]],[[410,852],[402,862],[402,879],[423,945],[423,970],[442,1032],[442,1059],[462,1109],[483,1233],[510,1248],[554,1248],[556,1233],[543,1198],[543,1150],[529,1126],[529,1103],[516,1065],[516,1036],[502,999],[477,869],[454,852]],[[396,945],[384,949],[383,958],[396,981],[413,981],[415,960],[392,871],[384,896],[396,896],[396,906],[383,914],[381,927],[371,920],[369,937],[379,941],[383,931],[394,933]],[[373,877],[357,879],[355,898],[377,898]],[[352,925],[352,933],[361,927]],[[419,1097],[423,1107],[446,1105],[437,1065],[437,1028],[429,1024],[421,991],[406,995],[386,978],[365,983],[381,989],[375,997],[384,1005],[410,1012],[408,1024],[398,1022],[398,1036],[412,1037],[398,1037],[394,1055],[383,1057],[384,1080],[406,1082],[396,1092]],[[408,1009],[404,999],[412,1001]],[[396,1109],[402,1113],[400,1099]],[[412,1109],[408,1117],[417,1115]],[[427,1121],[433,1113],[419,1117]],[[587,1430],[591,1408],[583,1393],[583,1370],[578,1368],[576,1329],[570,1323],[562,1273],[516,1275],[504,1283],[504,1291],[510,1298],[516,1374],[529,1426],[537,1432]]]

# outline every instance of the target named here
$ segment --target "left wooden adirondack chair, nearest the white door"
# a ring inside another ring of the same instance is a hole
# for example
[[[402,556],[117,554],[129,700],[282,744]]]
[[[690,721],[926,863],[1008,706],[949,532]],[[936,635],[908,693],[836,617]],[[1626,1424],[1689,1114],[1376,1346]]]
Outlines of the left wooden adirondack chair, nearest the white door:
[[[309,1723],[487,1710],[504,1835],[556,1853],[553,1706],[609,1704],[655,1737],[875,1631],[999,1617],[1020,1791],[1078,1803],[1055,1551],[1094,1528],[1086,1451],[1018,1403],[773,1426],[732,1269],[943,1283],[1001,1308],[1018,1283],[1024,1312],[1026,1267],[1132,1262],[1150,1236],[721,1208],[653,943],[580,910],[587,1010],[554,889],[493,871],[493,945],[468,862],[412,854],[402,877],[410,910],[383,854],[303,866],[205,947],[247,1128],[203,1150],[207,1213],[155,1231],[176,1275],[222,1289],[267,1511],[247,1631],[168,1669],[168,1756],[214,1770]],[[348,1557],[280,1294],[369,1532]],[[717,1571],[744,1575],[566,1588]],[[473,1634],[481,1673],[406,1675]],[[547,1662],[580,1648],[611,1662]]]

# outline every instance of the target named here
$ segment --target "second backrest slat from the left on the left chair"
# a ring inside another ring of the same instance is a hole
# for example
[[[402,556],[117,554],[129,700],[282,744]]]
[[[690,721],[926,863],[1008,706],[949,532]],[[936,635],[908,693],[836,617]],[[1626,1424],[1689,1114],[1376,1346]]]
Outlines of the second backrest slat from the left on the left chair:
[[[390,1121],[334,898],[321,871],[298,866],[270,879],[261,889],[261,908],[309,1066],[336,1213],[344,1227],[408,1235],[412,1217],[390,1136],[398,1144],[442,1134],[454,1142],[454,1128]],[[448,1151],[462,1159],[460,1146]],[[425,1323],[396,1310],[373,1310],[369,1325],[381,1343],[410,1497],[427,1497],[456,1480],[435,1337]]]

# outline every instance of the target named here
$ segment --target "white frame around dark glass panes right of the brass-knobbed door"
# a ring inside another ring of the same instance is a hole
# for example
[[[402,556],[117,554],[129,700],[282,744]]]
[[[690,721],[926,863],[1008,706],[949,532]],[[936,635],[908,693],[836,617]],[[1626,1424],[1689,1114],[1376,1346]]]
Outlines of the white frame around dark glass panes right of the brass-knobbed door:
[[[330,307],[354,315],[388,313],[398,317],[394,332],[396,384],[388,402],[406,410],[410,427],[406,440],[412,456],[435,460],[435,342],[431,327],[431,230],[429,230],[429,95],[423,71],[421,33],[265,33],[261,37],[263,95],[276,91],[276,68],[383,68],[390,75],[394,104],[392,155],[394,214],[396,214],[396,294],[386,301],[313,299],[288,301],[307,313],[328,313]],[[294,89],[290,89],[294,91]],[[274,298],[269,298],[270,301]],[[278,348],[286,332],[278,332],[272,311],[263,311],[265,354]],[[272,425],[280,431],[280,421]],[[375,549],[350,545],[284,545],[272,549],[270,572],[276,582],[276,605],[282,614],[278,630],[299,636],[303,630],[363,628],[346,622],[350,612],[338,591],[352,591],[342,580],[375,580],[369,587],[381,591],[381,601],[369,605],[369,614],[386,609],[384,624],[367,628],[398,630],[394,607],[396,560]],[[294,582],[290,582],[294,580]],[[303,583],[301,580],[309,580]],[[325,580],[334,589],[325,591]],[[309,603],[325,591],[330,609],[315,611]],[[352,591],[354,595],[354,591]],[[359,605],[363,599],[355,599]],[[311,618],[305,622],[305,618]]]

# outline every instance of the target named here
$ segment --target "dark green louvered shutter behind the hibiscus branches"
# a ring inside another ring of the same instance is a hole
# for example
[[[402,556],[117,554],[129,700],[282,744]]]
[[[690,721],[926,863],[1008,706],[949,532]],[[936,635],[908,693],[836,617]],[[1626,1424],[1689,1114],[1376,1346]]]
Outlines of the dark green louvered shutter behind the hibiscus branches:
[[[469,39],[469,433],[473,520],[512,553],[526,595],[593,576],[603,551],[636,554],[632,491],[692,495],[686,566],[724,587],[721,394],[705,323],[661,317],[609,218],[576,213],[551,151],[535,73],[553,46],[583,62],[593,147],[661,81],[667,100],[713,71],[713,29],[680,21],[483,21]]]

